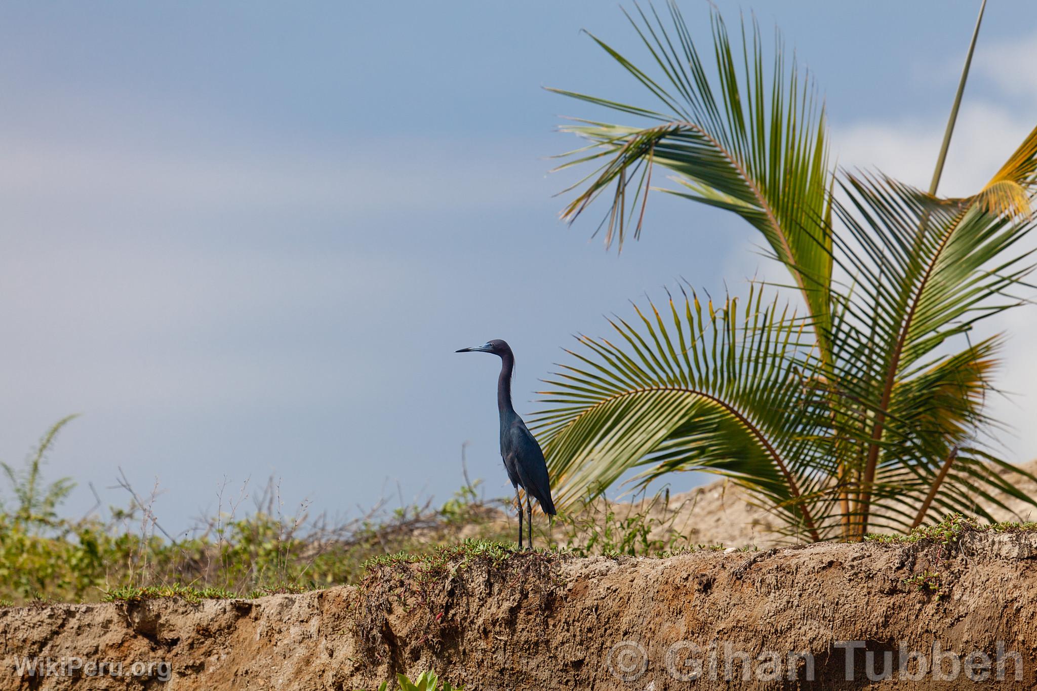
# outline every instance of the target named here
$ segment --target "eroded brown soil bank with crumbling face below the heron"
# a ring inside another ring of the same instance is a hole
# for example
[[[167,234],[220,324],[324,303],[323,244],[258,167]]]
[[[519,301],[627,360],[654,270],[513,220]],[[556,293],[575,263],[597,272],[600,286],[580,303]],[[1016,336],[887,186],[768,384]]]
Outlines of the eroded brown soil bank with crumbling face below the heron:
[[[0,640],[0,689],[355,689],[426,668],[469,689],[1031,689],[1037,535],[386,564],[360,588],[8,608]],[[868,681],[865,651],[891,679]]]

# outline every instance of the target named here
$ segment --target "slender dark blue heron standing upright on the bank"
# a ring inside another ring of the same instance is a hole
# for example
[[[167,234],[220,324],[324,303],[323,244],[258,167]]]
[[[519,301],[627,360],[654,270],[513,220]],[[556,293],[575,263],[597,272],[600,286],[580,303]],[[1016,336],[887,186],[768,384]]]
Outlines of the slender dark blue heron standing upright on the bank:
[[[536,438],[526,428],[515,409],[511,407],[511,372],[515,356],[507,343],[500,340],[484,343],[475,348],[461,348],[457,352],[489,352],[501,358],[501,376],[497,379],[497,408],[501,413],[501,458],[508,471],[508,480],[515,488],[518,502],[518,549],[522,549],[522,497],[518,488],[526,490],[526,510],[529,517],[529,546],[533,546],[533,503],[532,495],[540,502],[540,509],[549,516],[555,515],[555,502],[551,500],[551,482],[548,480],[548,464]]]

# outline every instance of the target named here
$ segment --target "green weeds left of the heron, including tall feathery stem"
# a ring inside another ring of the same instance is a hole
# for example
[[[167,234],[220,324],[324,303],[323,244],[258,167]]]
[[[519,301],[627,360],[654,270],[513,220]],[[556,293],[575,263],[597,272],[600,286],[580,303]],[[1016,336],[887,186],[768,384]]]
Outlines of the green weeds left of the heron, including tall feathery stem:
[[[258,509],[237,516],[241,496],[202,521],[188,537],[172,539],[152,509],[123,478],[131,497],[124,508],[62,517],[59,509],[75,487],[67,478],[46,484],[44,465],[60,430],[44,435],[24,468],[3,464],[7,500],[0,502],[0,598],[9,603],[39,600],[96,601],[144,598],[257,597],[359,582],[364,562],[400,550],[426,550],[457,540],[457,526],[478,537],[496,510],[455,497],[443,512],[428,506],[392,512],[375,508],[355,521],[329,525],[321,517],[283,516],[277,486],[259,493]],[[12,500],[9,498],[12,497]]]

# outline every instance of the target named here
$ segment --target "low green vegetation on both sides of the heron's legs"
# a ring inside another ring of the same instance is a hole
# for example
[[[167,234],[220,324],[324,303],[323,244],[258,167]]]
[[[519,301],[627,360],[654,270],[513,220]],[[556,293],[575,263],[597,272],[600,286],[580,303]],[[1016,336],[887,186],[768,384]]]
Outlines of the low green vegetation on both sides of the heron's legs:
[[[239,516],[246,492],[221,499],[215,516],[186,537],[165,534],[152,493],[142,496],[125,479],[125,507],[107,518],[60,514],[75,487],[71,479],[45,482],[47,452],[66,418],[48,430],[24,468],[4,465],[0,490],[0,606],[38,601],[137,601],[151,598],[254,598],[360,583],[372,571],[410,564],[419,580],[443,576],[477,560],[498,565],[513,554],[514,523],[505,502],[479,497],[466,483],[441,508],[375,507],[359,519],[330,525],[301,508],[279,511],[277,486],[256,497],[257,510]],[[662,496],[613,505],[602,498],[570,512],[553,526],[541,520],[538,540],[576,555],[662,555],[689,547]],[[509,520],[512,521],[509,523]]]

